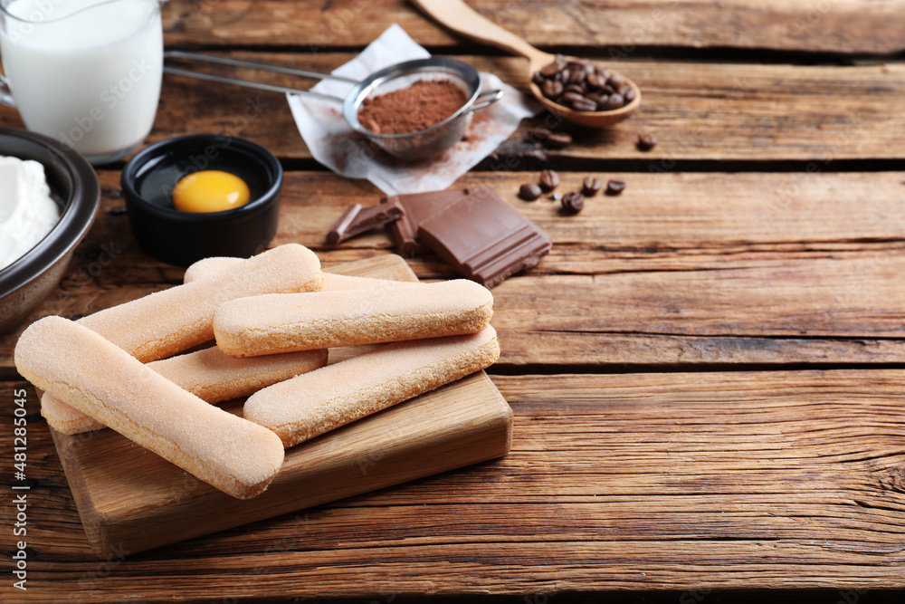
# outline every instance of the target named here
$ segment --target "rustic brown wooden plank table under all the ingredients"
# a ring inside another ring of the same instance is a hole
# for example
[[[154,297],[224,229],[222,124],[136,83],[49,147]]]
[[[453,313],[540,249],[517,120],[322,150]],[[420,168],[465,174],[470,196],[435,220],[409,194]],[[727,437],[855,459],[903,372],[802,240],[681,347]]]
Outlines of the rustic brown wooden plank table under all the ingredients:
[[[470,4],[545,49],[613,61],[644,93],[632,120],[573,129],[560,151],[526,142],[526,120],[459,181],[496,187],[554,240],[493,290],[502,356],[490,372],[515,411],[510,455],[99,563],[30,394],[28,590],[7,574],[0,599],[717,602],[796,590],[852,604],[905,587],[900,3]],[[397,0],[170,0],[163,13],[169,48],[318,70],[399,23],[433,53],[527,88],[522,60]],[[0,125],[21,122],[3,109]],[[659,139],[653,151],[635,148],[639,131]],[[344,207],[379,192],[320,167],[281,95],[167,77],[149,141],[194,132],[280,156],[274,244],[305,244],[325,266],[394,251],[384,232],[323,244]],[[592,175],[627,188],[560,216],[515,195],[540,168],[559,170],[564,190]],[[119,171],[99,174],[98,221],[31,320],[182,278],[115,211]],[[100,268],[103,250],[115,253]],[[410,265],[452,277],[436,257]],[[0,339],[7,427],[25,385],[15,339]],[[2,437],[8,489],[11,430]]]

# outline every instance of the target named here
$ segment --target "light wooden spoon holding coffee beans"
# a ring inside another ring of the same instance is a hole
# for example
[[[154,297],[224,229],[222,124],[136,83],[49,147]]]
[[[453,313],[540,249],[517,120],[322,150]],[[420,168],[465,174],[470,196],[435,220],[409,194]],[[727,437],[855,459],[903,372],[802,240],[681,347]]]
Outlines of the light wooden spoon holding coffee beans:
[[[421,10],[433,17],[434,20],[448,27],[453,32],[478,40],[479,42],[497,46],[503,50],[510,51],[510,53],[520,54],[527,58],[529,79],[534,72],[537,72],[544,65],[554,62],[556,59],[555,55],[538,50],[531,44],[519,38],[516,34],[512,34],[509,30],[500,27],[500,25],[488,21],[480,14],[474,12],[472,8],[462,2],[462,0],[413,0],[413,2],[420,7]],[[538,101],[543,103],[548,110],[551,110],[563,119],[576,124],[600,128],[624,120],[632,115],[634,110],[638,109],[638,106],[641,105],[641,90],[633,81],[625,78],[625,76],[622,77],[633,88],[634,100],[619,109],[609,111],[574,110],[549,100],[533,81],[531,81],[530,86],[531,93],[534,94],[534,96],[538,98]]]

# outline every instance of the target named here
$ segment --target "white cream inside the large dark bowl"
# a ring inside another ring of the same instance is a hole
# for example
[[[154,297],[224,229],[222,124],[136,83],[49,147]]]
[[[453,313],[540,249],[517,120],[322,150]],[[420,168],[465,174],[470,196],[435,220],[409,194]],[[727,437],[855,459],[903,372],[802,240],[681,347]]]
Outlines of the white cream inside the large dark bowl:
[[[0,157],[0,269],[37,245],[60,220],[44,167]]]

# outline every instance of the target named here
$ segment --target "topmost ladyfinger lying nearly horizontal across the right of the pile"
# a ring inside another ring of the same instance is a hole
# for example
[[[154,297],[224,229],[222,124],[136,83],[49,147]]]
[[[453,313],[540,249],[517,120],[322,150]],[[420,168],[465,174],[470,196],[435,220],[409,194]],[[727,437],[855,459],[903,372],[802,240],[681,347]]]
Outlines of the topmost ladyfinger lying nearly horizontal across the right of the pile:
[[[233,300],[214,314],[214,336],[226,354],[246,357],[475,333],[491,314],[491,292],[458,279]]]

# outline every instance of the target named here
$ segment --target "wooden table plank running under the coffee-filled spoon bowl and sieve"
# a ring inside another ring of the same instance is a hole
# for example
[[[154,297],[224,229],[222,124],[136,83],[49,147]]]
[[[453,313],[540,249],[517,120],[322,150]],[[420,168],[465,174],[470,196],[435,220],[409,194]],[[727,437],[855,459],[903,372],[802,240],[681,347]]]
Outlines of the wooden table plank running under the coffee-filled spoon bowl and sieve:
[[[349,53],[314,55],[229,53],[252,61],[329,71]],[[458,57],[527,91],[523,60]],[[642,87],[641,110],[609,129],[558,126],[541,116],[521,128],[485,161],[483,169],[530,169],[539,162],[567,169],[580,159],[605,169],[606,160],[641,162],[644,171],[672,171],[680,160],[814,162],[833,169],[843,159],[905,158],[898,134],[905,129],[905,65],[806,66],[738,63],[619,62]],[[220,70],[212,70],[220,72]],[[242,78],[255,74],[239,70]],[[307,87],[286,77],[268,81]],[[576,142],[548,151],[529,130],[548,121]],[[14,109],[0,107],[0,126],[22,125]],[[650,152],[635,147],[640,131],[658,139]],[[311,160],[281,94],[167,76],[155,129],[148,142],[199,132],[242,136],[285,159]]]

